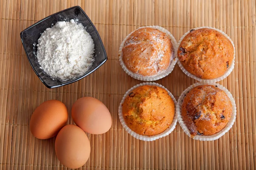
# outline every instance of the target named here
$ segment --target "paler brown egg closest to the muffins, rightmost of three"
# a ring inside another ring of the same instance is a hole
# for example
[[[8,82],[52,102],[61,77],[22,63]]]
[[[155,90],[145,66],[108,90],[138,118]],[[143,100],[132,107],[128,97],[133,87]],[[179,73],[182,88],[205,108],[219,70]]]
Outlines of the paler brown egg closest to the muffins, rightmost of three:
[[[93,97],[76,100],[72,106],[72,118],[76,125],[91,134],[106,133],[112,125],[108,108]]]

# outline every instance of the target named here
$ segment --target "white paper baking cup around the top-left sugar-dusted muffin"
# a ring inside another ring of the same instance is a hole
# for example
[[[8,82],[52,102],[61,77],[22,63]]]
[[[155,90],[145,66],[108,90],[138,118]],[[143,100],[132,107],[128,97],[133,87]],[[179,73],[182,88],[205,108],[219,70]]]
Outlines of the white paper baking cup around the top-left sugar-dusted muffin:
[[[172,59],[171,59],[169,67],[166,69],[166,71],[164,71],[163,73],[158,74],[158,75],[156,75],[154,77],[143,77],[141,75],[134,74],[132,71],[130,71],[130,70],[128,70],[128,68],[126,68],[126,66],[125,66],[125,64],[124,64],[124,62],[122,60],[122,48],[123,48],[127,38],[132,33],[134,33],[134,31],[132,31],[130,34],[128,34],[128,36],[125,37],[125,39],[122,41],[122,43],[121,43],[121,45],[119,47],[118,56],[119,56],[120,65],[124,69],[125,73],[127,73],[129,76],[131,76],[134,79],[143,80],[143,81],[155,81],[155,80],[158,80],[158,79],[162,79],[163,77],[166,77],[167,75],[169,75],[172,72],[172,70],[173,70],[173,68],[174,68],[174,66],[175,66],[175,64],[176,64],[176,62],[178,60],[177,59],[177,41],[172,36],[172,34],[168,30],[163,28],[163,27],[160,27],[160,26],[145,26],[145,27],[140,27],[140,28],[154,28],[154,29],[158,29],[159,31],[162,31],[162,32],[166,33],[166,35],[170,38],[174,51],[173,51],[173,54],[170,56]],[[138,29],[140,29],[140,28],[138,28]]]

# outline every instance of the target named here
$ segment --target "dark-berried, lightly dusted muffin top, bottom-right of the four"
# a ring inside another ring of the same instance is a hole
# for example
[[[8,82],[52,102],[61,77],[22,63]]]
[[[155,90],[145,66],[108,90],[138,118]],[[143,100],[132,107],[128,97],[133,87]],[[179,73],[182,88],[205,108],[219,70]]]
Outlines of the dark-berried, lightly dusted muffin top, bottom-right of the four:
[[[200,85],[186,94],[181,116],[190,134],[210,136],[226,127],[232,115],[227,94],[213,85]]]

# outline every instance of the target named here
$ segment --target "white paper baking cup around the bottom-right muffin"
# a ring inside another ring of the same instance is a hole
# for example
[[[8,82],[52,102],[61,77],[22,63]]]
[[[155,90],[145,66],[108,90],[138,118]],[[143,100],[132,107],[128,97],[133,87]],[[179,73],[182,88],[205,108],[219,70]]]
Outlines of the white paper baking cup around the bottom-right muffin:
[[[224,129],[222,129],[220,132],[218,132],[212,136],[200,136],[200,135],[192,136],[190,134],[189,129],[186,127],[186,124],[183,122],[183,119],[181,116],[181,107],[182,107],[182,104],[183,104],[183,101],[185,98],[185,94],[187,94],[188,91],[192,90],[192,88],[195,88],[199,85],[215,85],[215,86],[217,86],[218,88],[220,88],[227,94],[227,96],[230,98],[230,101],[232,103],[233,113],[230,118],[230,121],[227,123],[227,126],[224,127]],[[195,84],[189,86],[189,88],[187,88],[185,91],[182,92],[182,94],[180,95],[178,102],[177,102],[176,114],[177,114],[177,119],[179,121],[181,128],[189,137],[196,139],[196,140],[200,140],[200,141],[213,141],[213,140],[219,139],[221,136],[223,136],[225,133],[227,133],[230,130],[230,128],[233,126],[233,124],[236,120],[236,102],[235,102],[232,94],[230,93],[230,91],[228,91],[227,88],[225,88],[224,86],[222,86],[218,83],[215,83],[215,82],[212,82],[212,83],[198,82],[198,83],[195,83]]]

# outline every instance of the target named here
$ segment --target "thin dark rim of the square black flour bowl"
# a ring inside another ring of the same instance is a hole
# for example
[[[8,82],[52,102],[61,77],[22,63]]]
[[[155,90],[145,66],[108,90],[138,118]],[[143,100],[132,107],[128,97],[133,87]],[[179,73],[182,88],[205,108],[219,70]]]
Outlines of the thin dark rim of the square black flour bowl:
[[[68,11],[68,10],[73,9],[73,8],[79,8],[79,9],[83,12],[83,14],[84,14],[84,16],[87,18],[87,20],[89,20],[90,24],[93,26],[93,29],[96,31],[96,34],[97,34],[97,36],[98,36],[98,38],[99,38],[99,42],[100,42],[100,44],[102,45],[105,59],[104,59],[99,65],[97,65],[96,68],[94,68],[92,71],[90,71],[89,73],[85,74],[85,75],[82,76],[82,77],[79,77],[79,78],[74,79],[74,80],[72,80],[72,81],[70,81],[70,82],[66,82],[66,83],[63,83],[63,84],[60,84],[60,85],[49,86],[49,85],[47,85],[47,83],[44,82],[44,80],[39,76],[39,74],[37,73],[37,71],[35,71],[34,66],[32,65],[32,62],[31,62],[31,60],[30,60],[30,58],[29,58],[29,56],[28,56],[28,52],[27,52],[26,47],[25,47],[24,42],[23,42],[23,33],[24,33],[25,31],[29,30],[30,28],[32,28],[33,26],[37,25],[38,23],[41,23],[42,21],[47,20],[49,17],[52,17],[52,16],[54,16],[54,15],[56,15],[56,14],[59,14],[59,13],[64,12],[64,11]],[[43,18],[42,20],[39,20],[38,22],[32,24],[32,25],[29,26],[28,28],[26,28],[26,29],[24,29],[23,31],[21,31],[21,32],[20,32],[20,39],[21,39],[21,42],[22,42],[24,51],[25,51],[25,53],[26,53],[27,59],[29,60],[29,64],[31,65],[31,67],[32,67],[33,70],[35,71],[35,74],[37,75],[37,77],[41,80],[41,82],[42,82],[47,88],[58,88],[58,87],[61,87],[61,86],[64,86],[64,85],[69,85],[69,84],[71,84],[71,83],[73,83],[73,82],[76,82],[76,81],[78,81],[78,80],[80,80],[80,79],[83,79],[84,77],[86,77],[86,76],[88,76],[89,74],[91,74],[91,73],[93,73],[94,71],[96,71],[100,66],[102,66],[102,65],[108,60],[108,56],[107,56],[105,47],[104,47],[104,45],[103,45],[103,42],[102,42],[102,40],[101,40],[101,37],[99,36],[99,32],[97,31],[96,27],[93,25],[93,22],[90,20],[90,18],[87,16],[87,14],[84,12],[84,10],[83,10],[80,6],[73,6],[73,7],[64,9],[64,10],[62,10],[62,11],[58,11],[58,12],[56,12],[56,13],[54,13],[54,14],[51,14],[51,15],[49,15],[49,16]]]

